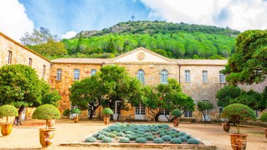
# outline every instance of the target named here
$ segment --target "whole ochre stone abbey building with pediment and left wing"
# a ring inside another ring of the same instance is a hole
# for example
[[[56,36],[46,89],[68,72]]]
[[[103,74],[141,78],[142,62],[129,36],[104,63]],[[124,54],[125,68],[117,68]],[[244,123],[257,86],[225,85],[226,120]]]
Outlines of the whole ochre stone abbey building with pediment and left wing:
[[[218,120],[223,108],[216,105],[215,94],[218,89],[226,86],[225,76],[221,73],[227,60],[196,60],[196,59],[170,59],[159,54],[138,48],[116,58],[58,58],[49,61],[44,56],[27,49],[18,42],[0,32],[0,67],[8,64],[30,65],[37,70],[39,77],[57,89],[62,99],[60,112],[66,108],[74,108],[70,103],[70,91],[72,83],[85,77],[95,75],[103,65],[119,65],[126,69],[132,77],[137,77],[144,85],[157,85],[167,83],[168,78],[174,78],[181,84],[185,94],[192,96],[195,103],[208,99],[213,101],[215,109],[211,114],[211,120]],[[254,89],[262,92],[267,85],[267,80],[259,85],[241,86],[243,89]],[[119,101],[118,101],[119,102]],[[30,109],[29,109],[30,110]],[[98,108],[95,117],[101,117],[103,108]],[[84,111],[82,117],[87,117]],[[114,110],[117,116],[117,110]],[[161,111],[159,120],[167,120],[169,112]],[[30,115],[30,113],[29,113]],[[121,120],[150,120],[148,109],[140,106],[131,111],[122,111]],[[186,111],[183,118],[202,120],[202,114],[195,111]]]

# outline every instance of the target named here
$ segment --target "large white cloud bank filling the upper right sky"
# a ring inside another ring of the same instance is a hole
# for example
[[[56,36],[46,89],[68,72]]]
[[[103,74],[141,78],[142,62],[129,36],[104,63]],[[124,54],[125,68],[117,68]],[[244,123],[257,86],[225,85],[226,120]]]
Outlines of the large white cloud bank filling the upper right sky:
[[[267,28],[267,1],[263,0],[141,0],[150,17],[168,22],[230,27],[235,30]]]

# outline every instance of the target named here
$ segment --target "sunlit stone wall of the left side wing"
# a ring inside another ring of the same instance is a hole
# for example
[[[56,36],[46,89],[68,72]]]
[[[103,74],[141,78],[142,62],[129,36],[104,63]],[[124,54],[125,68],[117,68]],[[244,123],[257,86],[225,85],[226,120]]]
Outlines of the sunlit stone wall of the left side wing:
[[[8,64],[9,51],[12,52],[11,64],[29,65],[29,58],[32,58],[32,68],[37,71],[39,77],[49,81],[50,61],[0,32],[0,67]],[[44,65],[45,75],[43,75]]]

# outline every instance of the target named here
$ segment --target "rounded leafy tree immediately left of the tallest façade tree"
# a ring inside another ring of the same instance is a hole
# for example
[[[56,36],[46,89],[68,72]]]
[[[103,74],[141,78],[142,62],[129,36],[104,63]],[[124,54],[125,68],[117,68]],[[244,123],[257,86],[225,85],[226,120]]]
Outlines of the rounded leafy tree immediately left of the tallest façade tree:
[[[89,120],[93,118],[93,113],[103,101],[103,85],[97,75],[86,77],[76,81],[70,87],[70,101],[77,105],[82,111],[89,111]]]

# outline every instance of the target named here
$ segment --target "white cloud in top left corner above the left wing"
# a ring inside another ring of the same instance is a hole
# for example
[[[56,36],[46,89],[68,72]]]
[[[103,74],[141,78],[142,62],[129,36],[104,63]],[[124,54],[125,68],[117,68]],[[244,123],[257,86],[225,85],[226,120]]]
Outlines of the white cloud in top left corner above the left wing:
[[[18,0],[0,1],[0,32],[20,42],[25,32],[32,32],[34,23]]]

